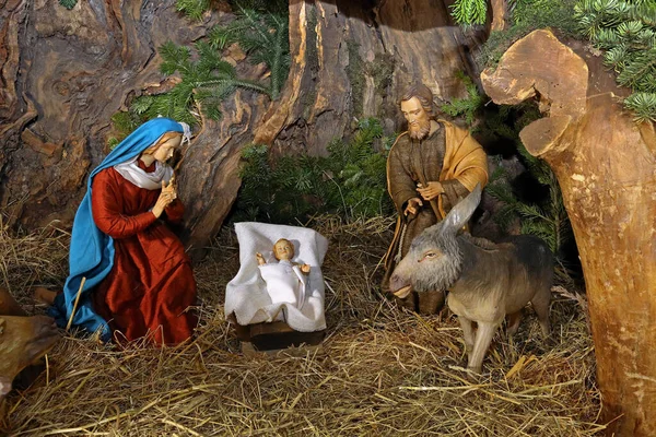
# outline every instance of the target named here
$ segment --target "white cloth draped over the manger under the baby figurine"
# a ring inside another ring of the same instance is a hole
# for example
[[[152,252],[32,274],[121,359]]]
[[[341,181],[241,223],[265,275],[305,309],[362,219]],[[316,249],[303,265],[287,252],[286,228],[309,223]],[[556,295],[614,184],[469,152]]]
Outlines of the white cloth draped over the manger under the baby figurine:
[[[328,240],[314,229],[257,222],[236,223],[235,233],[241,267],[225,288],[225,315],[234,312],[243,326],[281,320],[284,316],[284,321],[296,331],[326,329],[321,264]],[[290,273],[285,270],[289,264],[273,259],[271,248],[280,238],[294,245],[293,261],[309,264],[309,274],[303,274],[298,265]],[[258,265],[257,252],[273,262]],[[270,276],[267,282],[265,276]],[[302,286],[295,287],[300,277],[306,281],[303,292]],[[267,286],[271,281],[278,282],[280,287]]]

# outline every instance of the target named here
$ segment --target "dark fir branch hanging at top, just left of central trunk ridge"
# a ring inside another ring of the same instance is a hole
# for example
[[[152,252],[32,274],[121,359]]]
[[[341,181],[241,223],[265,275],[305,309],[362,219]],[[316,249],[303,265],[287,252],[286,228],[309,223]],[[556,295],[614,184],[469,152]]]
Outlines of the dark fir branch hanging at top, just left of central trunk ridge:
[[[263,62],[271,72],[267,94],[277,98],[290,69],[289,10],[283,0],[235,0],[235,20],[208,33],[213,49],[233,43],[248,54],[253,63]]]

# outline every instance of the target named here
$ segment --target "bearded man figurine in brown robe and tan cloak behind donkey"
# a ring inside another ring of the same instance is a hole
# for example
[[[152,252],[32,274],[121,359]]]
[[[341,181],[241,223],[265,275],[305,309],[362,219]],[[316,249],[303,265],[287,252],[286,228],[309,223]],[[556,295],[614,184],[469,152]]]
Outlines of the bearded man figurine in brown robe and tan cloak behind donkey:
[[[469,131],[436,118],[433,93],[425,85],[410,87],[400,99],[408,121],[387,158],[387,190],[398,212],[396,231],[385,256],[383,290],[396,264],[423,229],[442,221],[477,184],[488,181],[488,158]],[[444,291],[418,295],[401,303],[422,314],[444,305]]]

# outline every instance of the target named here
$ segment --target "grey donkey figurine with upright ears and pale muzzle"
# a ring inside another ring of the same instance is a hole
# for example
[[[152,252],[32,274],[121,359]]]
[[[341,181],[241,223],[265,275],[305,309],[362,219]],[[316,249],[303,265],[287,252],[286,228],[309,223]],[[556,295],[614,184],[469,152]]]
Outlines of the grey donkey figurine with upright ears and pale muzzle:
[[[508,315],[508,334],[519,327],[522,309],[529,302],[544,338],[549,336],[549,303],[553,256],[538,237],[519,235],[494,244],[468,234],[458,235],[481,200],[477,186],[444,221],[420,234],[390,279],[398,297],[448,290],[447,304],[458,316],[465,334],[467,367],[481,371],[494,332]],[[477,322],[476,332],[472,322]]]

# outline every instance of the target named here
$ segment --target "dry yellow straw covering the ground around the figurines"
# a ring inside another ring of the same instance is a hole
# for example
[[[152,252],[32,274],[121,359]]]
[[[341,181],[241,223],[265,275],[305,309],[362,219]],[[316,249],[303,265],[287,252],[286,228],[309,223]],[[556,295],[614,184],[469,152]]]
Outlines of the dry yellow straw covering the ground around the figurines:
[[[390,222],[312,223],[330,240],[324,264],[328,336],[300,356],[239,354],[225,322],[225,283],[238,248],[224,231],[196,269],[197,339],[175,349],[116,351],[66,338],[48,371],[3,406],[12,436],[593,436],[600,401],[583,302],[554,296],[554,344],[535,315],[514,339],[497,334],[483,375],[464,364],[449,315],[421,317],[377,294]],[[23,304],[27,286],[59,285],[62,233],[2,238],[3,281]],[[43,311],[43,308],[27,309]]]

